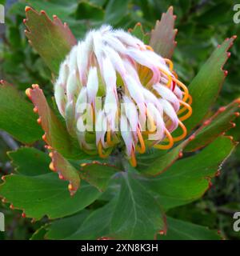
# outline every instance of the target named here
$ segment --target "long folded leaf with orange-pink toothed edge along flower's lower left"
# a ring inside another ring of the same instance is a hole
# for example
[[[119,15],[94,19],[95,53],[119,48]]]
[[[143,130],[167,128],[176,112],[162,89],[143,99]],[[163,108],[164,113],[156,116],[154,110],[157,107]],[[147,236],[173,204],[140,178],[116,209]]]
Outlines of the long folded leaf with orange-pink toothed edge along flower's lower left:
[[[70,138],[66,130],[66,126],[63,126],[53,110],[50,109],[46,98],[38,85],[33,85],[33,89],[27,89],[26,94],[30,100],[34,103],[35,110],[38,111],[39,119],[42,129],[45,131],[44,140],[46,143],[57,150],[63,157],[66,158],[87,158],[87,154],[82,152],[79,147],[75,146],[74,141]]]

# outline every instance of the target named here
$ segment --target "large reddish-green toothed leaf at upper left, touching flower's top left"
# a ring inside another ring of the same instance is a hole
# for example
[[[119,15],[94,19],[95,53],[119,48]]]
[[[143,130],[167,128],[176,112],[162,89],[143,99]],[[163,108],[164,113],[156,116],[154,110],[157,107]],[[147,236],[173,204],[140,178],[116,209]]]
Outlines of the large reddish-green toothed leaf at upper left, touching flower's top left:
[[[61,62],[77,43],[69,27],[62,24],[57,16],[54,16],[52,21],[45,11],[38,13],[28,6],[25,24],[26,37],[30,44],[38,51],[50,70],[58,74]]]

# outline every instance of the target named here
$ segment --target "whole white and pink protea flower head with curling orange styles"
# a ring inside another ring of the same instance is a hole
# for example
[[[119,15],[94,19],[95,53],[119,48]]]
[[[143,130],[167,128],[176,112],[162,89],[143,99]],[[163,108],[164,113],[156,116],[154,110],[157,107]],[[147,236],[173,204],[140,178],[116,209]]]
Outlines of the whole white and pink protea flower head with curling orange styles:
[[[124,30],[102,26],[70,50],[54,85],[58,109],[82,150],[105,158],[125,149],[167,150],[186,136],[191,97],[173,63]],[[171,133],[182,128],[182,135]]]

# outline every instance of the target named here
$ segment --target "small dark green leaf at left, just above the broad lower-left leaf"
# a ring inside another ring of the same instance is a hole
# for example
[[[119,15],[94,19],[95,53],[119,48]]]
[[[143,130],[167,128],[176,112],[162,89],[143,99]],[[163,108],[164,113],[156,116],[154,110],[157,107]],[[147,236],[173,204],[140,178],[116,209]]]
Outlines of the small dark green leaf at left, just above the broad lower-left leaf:
[[[18,174],[38,176],[49,173],[50,158],[46,153],[33,147],[21,147],[8,152]]]

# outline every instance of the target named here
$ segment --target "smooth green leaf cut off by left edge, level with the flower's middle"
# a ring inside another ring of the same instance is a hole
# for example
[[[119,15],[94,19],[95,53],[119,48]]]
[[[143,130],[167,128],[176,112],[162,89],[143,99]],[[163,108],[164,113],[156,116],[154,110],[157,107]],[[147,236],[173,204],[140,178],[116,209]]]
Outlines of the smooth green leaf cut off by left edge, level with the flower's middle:
[[[30,102],[5,81],[0,82],[0,129],[26,144],[37,141],[42,133]]]

